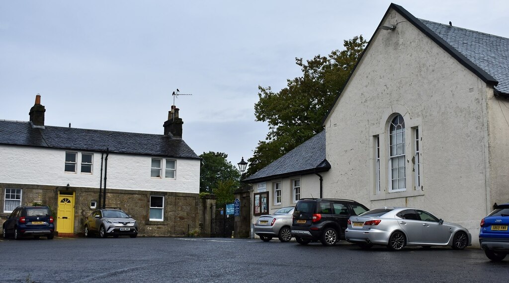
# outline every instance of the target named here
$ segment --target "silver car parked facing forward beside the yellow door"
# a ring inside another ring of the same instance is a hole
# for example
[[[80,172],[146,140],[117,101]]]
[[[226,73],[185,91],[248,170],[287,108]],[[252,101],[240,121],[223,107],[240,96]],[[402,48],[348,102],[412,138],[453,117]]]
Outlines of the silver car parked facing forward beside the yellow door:
[[[90,214],[84,225],[85,237],[99,234],[101,238],[129,235],[136,238],[138,224],[125,211],[121,209],[97,209]]]

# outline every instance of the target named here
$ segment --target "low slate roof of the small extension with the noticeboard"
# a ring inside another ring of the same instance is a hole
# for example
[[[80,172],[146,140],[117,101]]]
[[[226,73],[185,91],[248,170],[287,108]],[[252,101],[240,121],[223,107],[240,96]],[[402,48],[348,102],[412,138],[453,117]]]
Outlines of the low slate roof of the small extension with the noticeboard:
[[[256,183],[302,174],[328,171],[329,162],[325,159],[325,130],[297,146],[262,170],[245,178],[242,182]]]

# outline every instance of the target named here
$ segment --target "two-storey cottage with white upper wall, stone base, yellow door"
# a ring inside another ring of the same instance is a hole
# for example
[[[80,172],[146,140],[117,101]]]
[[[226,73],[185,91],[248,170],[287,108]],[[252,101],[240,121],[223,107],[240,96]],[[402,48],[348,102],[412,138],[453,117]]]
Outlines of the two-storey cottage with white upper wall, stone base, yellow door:
[[[0,216],[18,205],[48,205],[59,235],[82,233],[96,208],[121,208],[140,236],[199,229],[200,158],[182,139],[172,106],[164,134],[44,124],[37,96],[30,121],[0,120]]]

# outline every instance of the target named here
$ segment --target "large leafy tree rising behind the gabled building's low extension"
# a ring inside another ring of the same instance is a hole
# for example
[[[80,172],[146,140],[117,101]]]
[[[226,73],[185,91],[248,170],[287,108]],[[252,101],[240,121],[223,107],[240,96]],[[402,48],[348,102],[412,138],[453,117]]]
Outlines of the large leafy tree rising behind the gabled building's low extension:
[[[269,124],[265,141],[260,141],[248,160],[246,175],[252,175],[301,143],[320,133],[323,119],[340,95],[366,46],[362,36],[344,41],[344,50],[317,55],[305,62],[295,58],[302,76],[288,79],[287,87],[273,92],[258,86],[259,102],[254,105],[257,121]]]

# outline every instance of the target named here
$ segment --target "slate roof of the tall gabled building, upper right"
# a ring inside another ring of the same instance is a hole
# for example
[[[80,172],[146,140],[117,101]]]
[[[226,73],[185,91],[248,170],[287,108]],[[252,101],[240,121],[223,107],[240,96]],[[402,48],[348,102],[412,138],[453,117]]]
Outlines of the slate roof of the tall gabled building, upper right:
[[[509,95],[509,39],[419,20],[475,66],[495,78],[498,81],[496,90]]]

